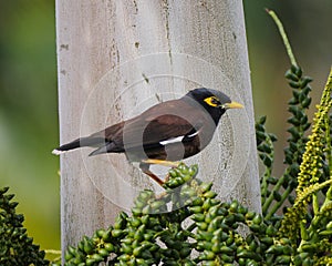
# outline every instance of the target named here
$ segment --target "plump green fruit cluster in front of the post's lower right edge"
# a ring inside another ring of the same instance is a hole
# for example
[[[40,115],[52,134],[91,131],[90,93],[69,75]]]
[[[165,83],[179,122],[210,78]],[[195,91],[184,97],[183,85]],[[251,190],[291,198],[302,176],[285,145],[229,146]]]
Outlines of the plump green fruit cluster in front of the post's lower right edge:
[[[197,226],[195,259],[201,265],[284,265],[291,260],[287,239],[276,241],[277,229],[260,214],[248,211],[237,201],[221,203],[211,191],[205,192],[201,205],[195,205]]]

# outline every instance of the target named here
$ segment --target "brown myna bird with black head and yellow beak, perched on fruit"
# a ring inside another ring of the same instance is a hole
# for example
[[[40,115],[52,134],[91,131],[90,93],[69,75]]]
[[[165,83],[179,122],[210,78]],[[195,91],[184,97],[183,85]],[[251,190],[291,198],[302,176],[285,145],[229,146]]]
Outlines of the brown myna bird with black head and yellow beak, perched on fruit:
[[[90,155],[125,153],[141,170],[164,183],[149,171],[151,164],[176,166],[178,161],[203,151],[211,141],[221,115],[240,109],[220,91],[199,88],[178,100],[162,102],[142,114],[80,137],[53,151],[61,154],[83,146],[96,147]]]

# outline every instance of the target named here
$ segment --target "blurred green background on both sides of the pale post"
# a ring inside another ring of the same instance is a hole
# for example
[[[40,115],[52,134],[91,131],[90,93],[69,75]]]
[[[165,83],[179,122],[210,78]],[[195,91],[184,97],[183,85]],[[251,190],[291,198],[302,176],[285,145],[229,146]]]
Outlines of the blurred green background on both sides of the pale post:
[[[283,79],[289,61],[264,8],[283,21],[298,63],[314,79],[318,103],[332,63],[332,1],[246,0],[245,16],[256,116],[279,136],[276,174],[287,133]],[[54,1],[0,1],[0,186],[10,186],[29,235],[60,248],[59,143]],[[313,109],[310,110],[312,115]]]

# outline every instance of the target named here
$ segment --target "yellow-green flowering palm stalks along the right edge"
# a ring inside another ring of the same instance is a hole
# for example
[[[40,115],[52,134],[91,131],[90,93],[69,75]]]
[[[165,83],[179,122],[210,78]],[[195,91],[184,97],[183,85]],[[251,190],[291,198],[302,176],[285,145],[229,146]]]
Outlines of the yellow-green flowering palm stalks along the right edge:
[[[321,265],[328,260],[332,264],[332,178],[324,170],[324,165],[332,168],[331,93],[332,71],[302,156],[297,198],[280,227],[280,235],[297,246],[297,265]]]

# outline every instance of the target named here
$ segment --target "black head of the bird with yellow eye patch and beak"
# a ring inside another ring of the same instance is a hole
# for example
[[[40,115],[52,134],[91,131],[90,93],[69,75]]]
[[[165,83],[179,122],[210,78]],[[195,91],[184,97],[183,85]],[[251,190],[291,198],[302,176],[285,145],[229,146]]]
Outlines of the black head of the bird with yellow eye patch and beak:
[[[209,112],[216,124],[218,124],[220,116],[226,112],[226,110],[243,108],[241,104],[232,102],[225,93],[212,89],[195,89],[189,91],[186,96],[194,99],[204,106]]]

